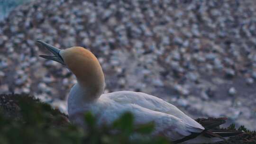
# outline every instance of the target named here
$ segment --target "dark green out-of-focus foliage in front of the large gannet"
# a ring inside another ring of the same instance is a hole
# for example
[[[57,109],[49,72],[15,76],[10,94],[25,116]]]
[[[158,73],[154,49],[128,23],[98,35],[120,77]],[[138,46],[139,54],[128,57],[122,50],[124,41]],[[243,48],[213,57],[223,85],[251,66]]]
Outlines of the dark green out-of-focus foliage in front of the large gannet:
[[[68,122],[67,116],[27,95],[0,95],[1,144],[170,144],[164,137],[148,136],[154,126],[133,125],[125,113],[111,126],[96,125],[84,116],[87,130]],[[118,131],[118,133],[117,133]],[[136,136],[137,135],[137,136]],[[138,136],[139,135],[139,136]],[[133,138],[130,138],[130,137]]]

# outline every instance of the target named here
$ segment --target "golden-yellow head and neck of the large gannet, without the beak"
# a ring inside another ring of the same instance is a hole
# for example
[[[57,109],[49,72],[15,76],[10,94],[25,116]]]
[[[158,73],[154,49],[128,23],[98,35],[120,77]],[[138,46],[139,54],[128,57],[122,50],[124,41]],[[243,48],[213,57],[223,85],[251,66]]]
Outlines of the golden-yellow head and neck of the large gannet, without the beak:
[[[76,49],[75,54],[73,49]],[[103,93],[105,79],[96,56],[82,47],[70,48],[61,54],[67,67],[76,76],[79,95],[83,98],[81,100],[98,99]]]

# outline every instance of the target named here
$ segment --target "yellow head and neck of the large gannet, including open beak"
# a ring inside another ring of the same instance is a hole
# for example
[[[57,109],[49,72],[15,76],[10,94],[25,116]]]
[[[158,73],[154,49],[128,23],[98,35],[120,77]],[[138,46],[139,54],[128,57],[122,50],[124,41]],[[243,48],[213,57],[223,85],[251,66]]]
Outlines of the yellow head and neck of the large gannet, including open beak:
[[[87,89],[90,95],[102,94],[105,83],[104,74],[94,54],[79,46],[60,50],[45,42],[37,42],[54,54],[54,56],[40,55],[41,57],[66,65],[76,76],[78,83],[82,88]]]

